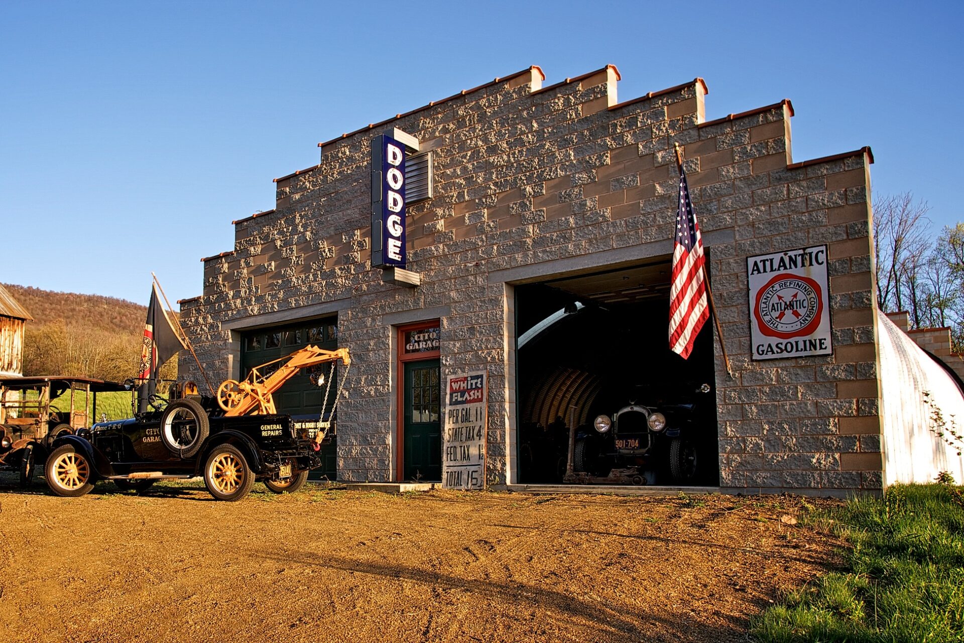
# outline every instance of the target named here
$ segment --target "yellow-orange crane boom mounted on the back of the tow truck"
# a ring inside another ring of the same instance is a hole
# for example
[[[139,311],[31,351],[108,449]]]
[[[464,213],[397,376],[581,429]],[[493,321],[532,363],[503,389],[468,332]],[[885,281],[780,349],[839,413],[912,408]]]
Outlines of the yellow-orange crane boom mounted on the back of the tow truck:
[[[267,377],[258,372],[265,366],[285,359],[287,362],[281,364],[278,370]],[[317,346],[306,346],[287,356],[287,358],[281,358],[281,360],[255,366],[243,382],[225,380],[218,387],[218,404],[227,412],[226,417],[277,413],[275,411],[274,392],[297,375],[302,368],[337,360],[340,360],[345,366],[351,364],[347,348],[326,351]]]

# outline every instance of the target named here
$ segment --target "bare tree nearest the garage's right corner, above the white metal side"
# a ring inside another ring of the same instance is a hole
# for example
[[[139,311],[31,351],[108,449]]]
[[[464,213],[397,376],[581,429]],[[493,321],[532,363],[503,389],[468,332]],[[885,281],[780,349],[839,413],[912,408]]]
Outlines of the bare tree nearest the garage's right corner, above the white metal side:
[[[873,204],[877,306],[882,310],[912,308],[917,315],[915,325],[920,322],[920,311],[912,293],[919,290],[922,257],[930,247],[929,209],[926,201],[915,202],[910,192],[883,197]]]

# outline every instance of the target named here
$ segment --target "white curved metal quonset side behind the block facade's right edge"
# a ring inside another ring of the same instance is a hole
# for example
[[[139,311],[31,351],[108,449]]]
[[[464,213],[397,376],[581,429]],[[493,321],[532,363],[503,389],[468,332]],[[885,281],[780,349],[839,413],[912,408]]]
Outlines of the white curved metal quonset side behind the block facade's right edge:
[[[880,418],[883,428],[884,484],[933,482],[949,471],[964,481],[964,463],[938,438],[935,411],[947,426],[964,429],[964,390],[948,371],[901,331],[877,314],[880,350]]]

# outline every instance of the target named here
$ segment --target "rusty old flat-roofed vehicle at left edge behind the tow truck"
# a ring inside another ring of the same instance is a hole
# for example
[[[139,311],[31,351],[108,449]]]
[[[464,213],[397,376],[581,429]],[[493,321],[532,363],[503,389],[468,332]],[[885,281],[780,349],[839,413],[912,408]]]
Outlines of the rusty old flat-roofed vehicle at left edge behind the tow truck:
[[[58,438],[90,426],[97,394],[123,390],[88,377],[0,378],[0,469],[19,471],[20,484],[28,486]]]

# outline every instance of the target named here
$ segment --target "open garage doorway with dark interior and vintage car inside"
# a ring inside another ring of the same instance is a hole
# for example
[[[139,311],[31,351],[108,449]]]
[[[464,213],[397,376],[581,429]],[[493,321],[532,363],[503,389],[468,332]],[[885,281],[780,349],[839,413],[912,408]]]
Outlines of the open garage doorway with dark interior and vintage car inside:
[[[669,349],[670,257],[516,286],[519,481],[716,486],[710,324]],[[581,477],[580,477],[581,476]]]

